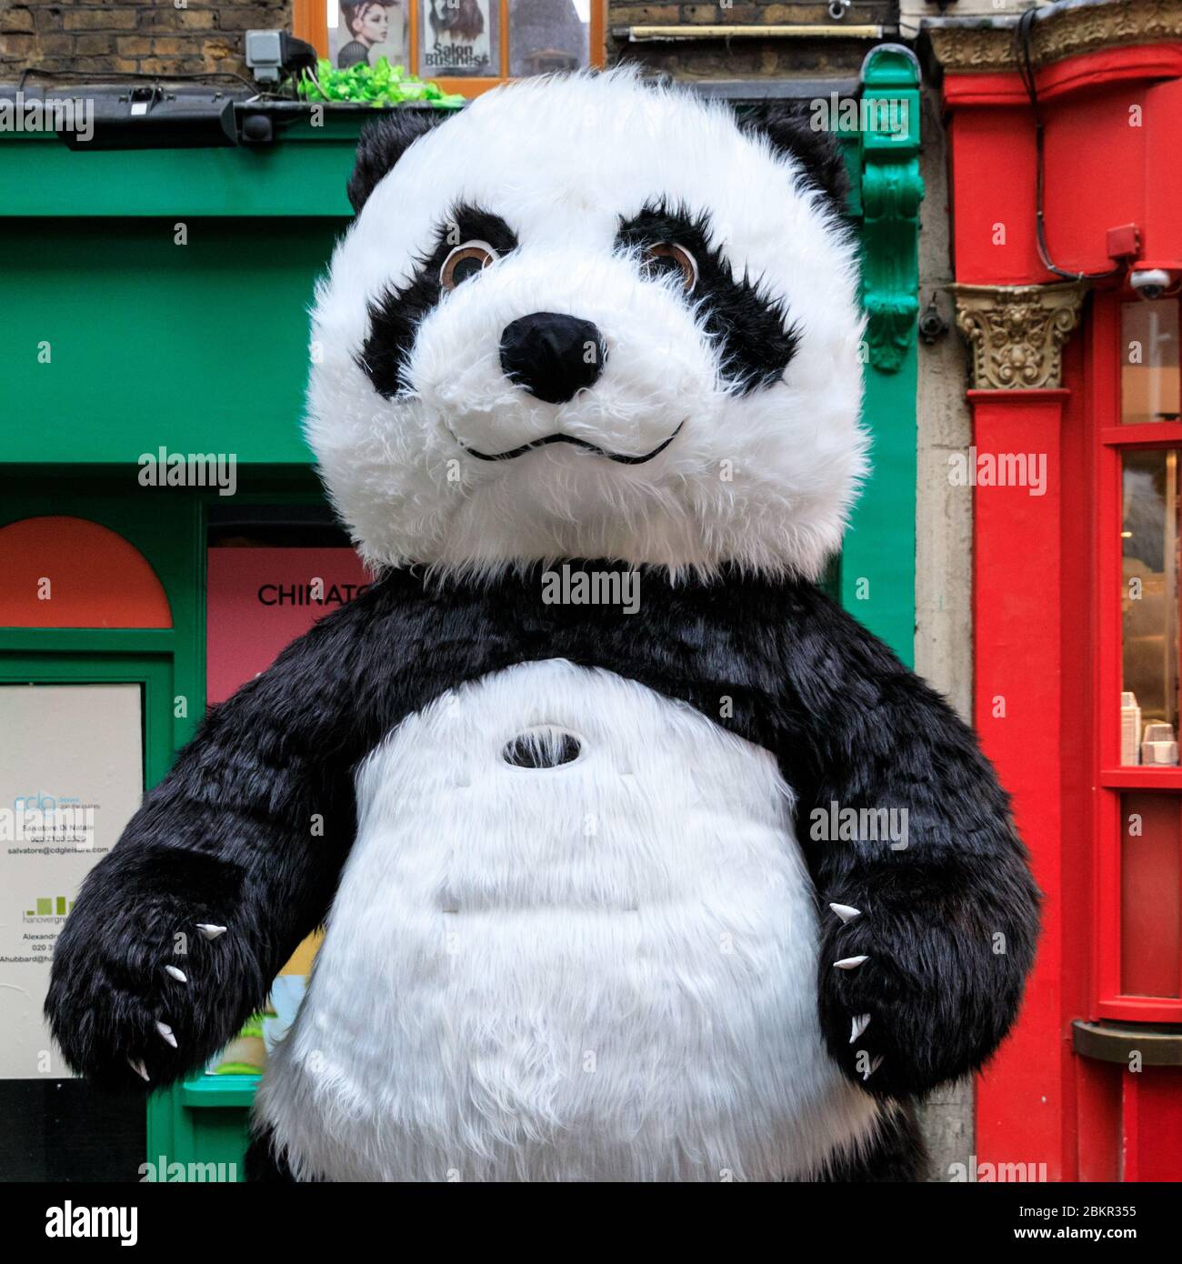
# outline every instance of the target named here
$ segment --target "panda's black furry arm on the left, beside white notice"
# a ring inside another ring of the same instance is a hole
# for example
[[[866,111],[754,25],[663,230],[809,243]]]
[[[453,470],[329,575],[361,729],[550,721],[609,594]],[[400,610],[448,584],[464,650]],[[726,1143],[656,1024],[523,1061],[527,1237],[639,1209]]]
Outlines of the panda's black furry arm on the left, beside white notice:
[[[214,708],[87,876],[46,1001],[78,1072],[155,1087],[198,1069],[324,920],[351,770],[382,734],[372,594]]]

